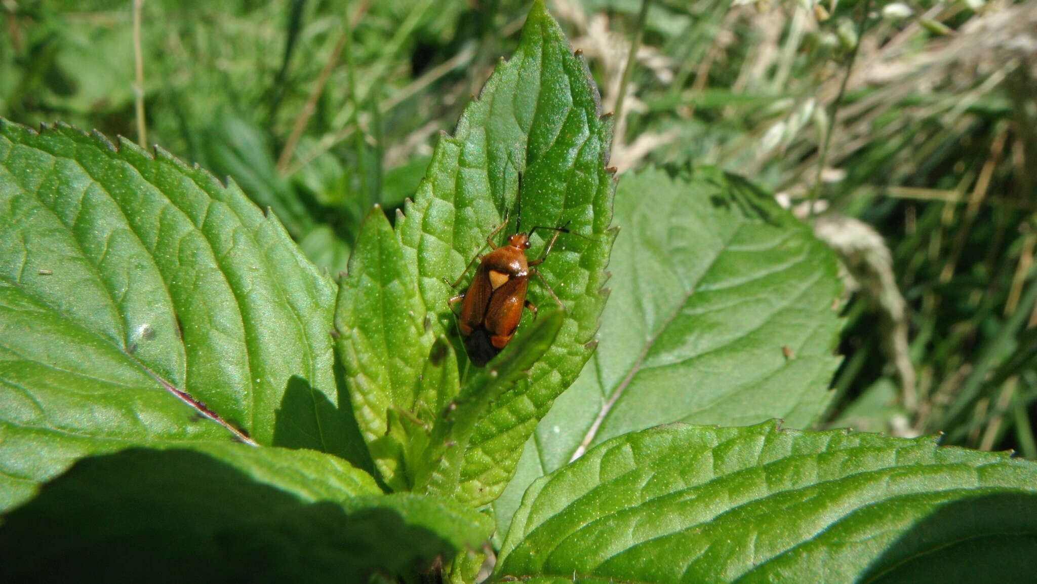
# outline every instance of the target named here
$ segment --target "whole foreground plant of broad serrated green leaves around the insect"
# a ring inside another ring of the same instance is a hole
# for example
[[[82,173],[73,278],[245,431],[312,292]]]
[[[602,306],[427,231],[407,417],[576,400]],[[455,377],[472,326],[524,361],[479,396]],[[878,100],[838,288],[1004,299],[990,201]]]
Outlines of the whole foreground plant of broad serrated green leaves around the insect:
[[[307,242],[340,261],[383,199],[300,198],[248,123],[243,191],[0,120],[0,580],[1028,581],[1037,466],[766,421],[831,405],[833,253],[712,167],[628,173],[613,208],[599,114],[534,3],[338,281]],[[520,218],[569,226],[564,309],[534,282],[477,369],[444,278]]]

